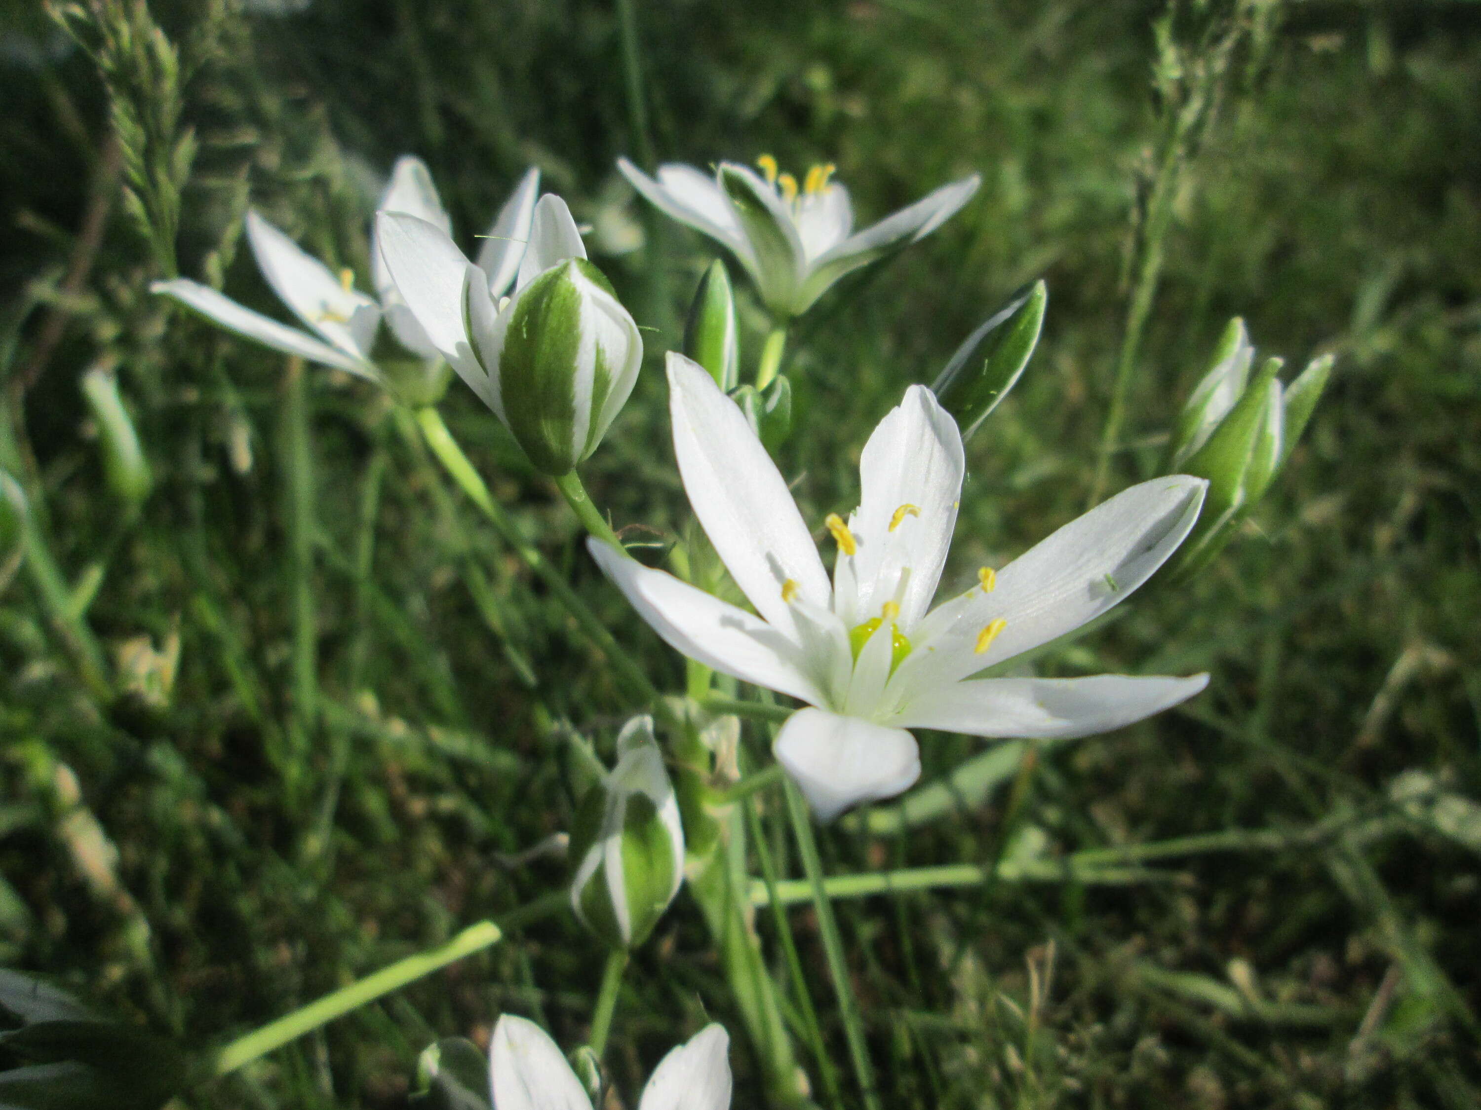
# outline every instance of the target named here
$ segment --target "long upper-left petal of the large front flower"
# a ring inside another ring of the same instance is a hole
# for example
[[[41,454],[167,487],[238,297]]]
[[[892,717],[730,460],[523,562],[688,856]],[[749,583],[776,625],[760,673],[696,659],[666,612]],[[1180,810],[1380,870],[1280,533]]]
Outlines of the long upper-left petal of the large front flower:
[[[671,351],[668,385],[689,503],[757,613],[797,642],[786,582],[813,605],[831,593],[797,502],[740,408],[699,364]]]

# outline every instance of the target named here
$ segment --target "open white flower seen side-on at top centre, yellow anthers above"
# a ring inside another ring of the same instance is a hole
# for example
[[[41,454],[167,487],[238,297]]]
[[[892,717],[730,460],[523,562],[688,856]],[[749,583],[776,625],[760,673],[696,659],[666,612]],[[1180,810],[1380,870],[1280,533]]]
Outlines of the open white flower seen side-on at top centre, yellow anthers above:
[[[757,164],[761,175],[723,161],[714,178],[693,166],[668,164],[653,179],[626,158],[618,160],[618,169],[653,204],[727,247],[782,318],[806,312],[844,274],[933,232],[982,182],[972,175],[943,185],[855,232],[853,204],[849,191],[832,181],[832,166],[815,166],[798,188],[792,175],[776,172],[770,155]]]

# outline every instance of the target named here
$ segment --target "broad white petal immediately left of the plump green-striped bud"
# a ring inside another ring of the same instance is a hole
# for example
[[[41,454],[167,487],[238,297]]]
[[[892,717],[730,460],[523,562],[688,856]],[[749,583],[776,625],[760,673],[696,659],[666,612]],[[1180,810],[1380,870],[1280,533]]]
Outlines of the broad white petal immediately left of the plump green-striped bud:
[[[487,397],[487,374],[469,346],[464,321],[464,287],[472,263],[447,232],[401,212],[375,218],[381,258],[416,323],[478,397]]]

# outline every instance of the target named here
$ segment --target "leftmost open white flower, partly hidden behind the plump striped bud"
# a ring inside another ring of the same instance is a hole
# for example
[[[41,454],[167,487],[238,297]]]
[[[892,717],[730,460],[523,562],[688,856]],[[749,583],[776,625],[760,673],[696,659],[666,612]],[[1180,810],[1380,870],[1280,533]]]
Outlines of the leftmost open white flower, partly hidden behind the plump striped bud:
[[[518,271],[539,184],[539,170],[532,167],[489,228],[478,253],[478,266],[487,275],[492,296],[504,293]],[[381,194],[379,207],[419,216],[444,232],[452,228],[431,173],[421,158],[406,155],[397,160],[391,181]],[[175,297],[222,327],[274,351],[299,355],[311,363],[348,370],[372,380],[379,380],[370,349],[382,315],[401,346],[422,358],[437,357],[437,349],[397,295],[375,238],[370,243],[375,297],[355,290],[352,271],[341,269],[338,275],[332,274],[329,266],[305,253],[256,212],[247,213],[247,243],[262,277],[299,318],[304,329],[280,324],[198,281],[175,278],[156,281],[150,289]]]

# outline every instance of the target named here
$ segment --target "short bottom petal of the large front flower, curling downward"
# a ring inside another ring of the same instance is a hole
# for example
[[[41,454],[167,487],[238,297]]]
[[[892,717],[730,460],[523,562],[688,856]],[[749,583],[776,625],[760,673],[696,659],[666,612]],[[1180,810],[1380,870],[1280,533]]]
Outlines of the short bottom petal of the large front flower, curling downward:
[[[893,798],[920,778],[915,737],[856,716],[798,709],[772,744],[813,813],[831,821],[850,805]]]

